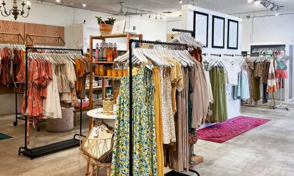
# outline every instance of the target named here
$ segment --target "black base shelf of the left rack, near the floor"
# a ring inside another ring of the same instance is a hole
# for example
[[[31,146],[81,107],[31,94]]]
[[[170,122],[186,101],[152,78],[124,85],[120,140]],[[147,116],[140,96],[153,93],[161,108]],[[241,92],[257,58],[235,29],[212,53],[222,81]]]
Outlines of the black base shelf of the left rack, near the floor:
[[[29,157],[32,159],[38,158],[41,156],[46,156],[49,154],[53,154],[56,152],[60,152],[62,150],[66,150],[69,148],[80,146],[80,140],[78,139],[69,139],[61,142],[56,142],[49,145],[44,145],[36,148],[25,148],[25,147],[19,147],[18,149],[18,155],[23,154],[26,157]],[[21,151],[21,149],[24,149]]]

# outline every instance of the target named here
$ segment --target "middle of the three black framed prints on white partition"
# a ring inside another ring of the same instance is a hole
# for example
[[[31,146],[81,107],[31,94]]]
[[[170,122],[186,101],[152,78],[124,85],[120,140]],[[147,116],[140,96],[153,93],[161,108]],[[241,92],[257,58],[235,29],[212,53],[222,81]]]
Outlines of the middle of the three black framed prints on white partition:
[[[224,48],[224,18],[212,16],[212,47]]]

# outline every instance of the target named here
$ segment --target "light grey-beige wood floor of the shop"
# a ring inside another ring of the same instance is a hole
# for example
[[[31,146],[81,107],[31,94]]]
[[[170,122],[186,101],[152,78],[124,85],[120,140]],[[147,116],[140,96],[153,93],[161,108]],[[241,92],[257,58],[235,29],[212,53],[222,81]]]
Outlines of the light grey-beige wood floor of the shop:
[[[286,176],[294,175],[294,105],[289,111],[284,109],[242,107],[244,116],[272,119],[272,121],[242,134],[223,144],[199,140],[195,153],[204,157],[204,162],[195,166],[201,176]],[[14,115],[0,116],[0,132],[13,138],[0,140],[0,176],[82,176],[85,160],[79,149],[72,148],[30,160],[18,156],[20,146],[24,146],[24,121],[19,120],[17,127],[12,122]],[[108,121],[113,125],[113,121]],[[88,121],[83,118],[83,132],[87,131]],[[36,147],[69,139],[78,133],[78,128],[71,132],[49,133],[44,130],[34,137],[31,131],[31,144]],[[106,175],[106,169],[101,169]],[[143,175],[142,175],[143,176]]]

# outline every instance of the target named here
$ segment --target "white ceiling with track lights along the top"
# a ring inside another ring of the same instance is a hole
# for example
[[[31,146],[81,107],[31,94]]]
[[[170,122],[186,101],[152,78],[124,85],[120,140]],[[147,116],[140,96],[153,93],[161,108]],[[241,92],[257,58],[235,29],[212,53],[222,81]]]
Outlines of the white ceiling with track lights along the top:
[[[56,3],[56,0],[44,0],[50,3]],[[60,3],[58,4],[61,4]],[[63,0],[63,5],[72,6],[77,8],[83,8],[88,10],[100,11],[105,13],[116,14],[117,12],[112,9],[120,9],[119,2],[124,2],[124,6],[138,8],[142,10],[152,11],[157,14],[161,14],[165,11],[173,12],[168,16],[179,16],[181,11],[181,5],[178,0]],[[188,0],[183,0],[182,5],[187,4]],[[292,13],[294,12],[293,0],[271,0],[280,6],[285,6],[279,13]],[[85,2],[86,7],[82,4]],[[266,10],[262,5],[255,6],[254,3],[248,4],[247,0],[195,0],[195,6],[210,9],[213,11],[236,14],[251,11]],[[189,1],[189,4],[193,4],[193,0]],[[131,11],[131,10],[129,10]],[[134,12],[134,11],[133,11]],[[270,11],[268,12],[271,13]],[[273,12],[272,12],[273,13]],[[153,14],[154,16],[154,14]]]

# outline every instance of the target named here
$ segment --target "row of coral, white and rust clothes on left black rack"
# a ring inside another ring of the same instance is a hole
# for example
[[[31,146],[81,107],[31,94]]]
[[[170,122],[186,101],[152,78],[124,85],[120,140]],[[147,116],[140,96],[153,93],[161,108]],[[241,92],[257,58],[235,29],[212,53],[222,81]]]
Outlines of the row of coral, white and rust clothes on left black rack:
[[[17,74],[17,80],[25,82],[27,70],[28,89],[27,96],[24,94],[22,99],[21,113],[32,117],[33,128],[36,127],[37,120],[62,118],[61,106],[78,106],[76,88],[82,91],[80,87],[85,87],[82,85],[85,84],[82,83],[82,79],[85,79],[86,72],[89,72],[89,64],[82,59],[82,55],[52,52],[54,51],[29,53],[28,68],[26,69],[24,60]],[[29,122],[27,124],[29,132]],[[29,143],[29,133],[27,142]]]

